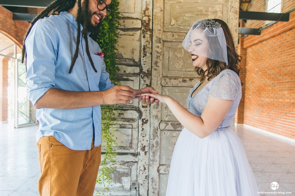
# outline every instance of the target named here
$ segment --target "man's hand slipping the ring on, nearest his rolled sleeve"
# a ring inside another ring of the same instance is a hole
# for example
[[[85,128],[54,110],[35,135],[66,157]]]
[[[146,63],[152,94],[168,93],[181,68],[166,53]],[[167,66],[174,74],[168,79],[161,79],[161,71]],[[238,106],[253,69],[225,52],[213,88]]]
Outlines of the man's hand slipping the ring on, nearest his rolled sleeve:
[[[114,105],[118,103],[127,104],[135,97],[135,91],[129,86],[114,86],[108,90],[101,91],[104,93],[104,104]]]

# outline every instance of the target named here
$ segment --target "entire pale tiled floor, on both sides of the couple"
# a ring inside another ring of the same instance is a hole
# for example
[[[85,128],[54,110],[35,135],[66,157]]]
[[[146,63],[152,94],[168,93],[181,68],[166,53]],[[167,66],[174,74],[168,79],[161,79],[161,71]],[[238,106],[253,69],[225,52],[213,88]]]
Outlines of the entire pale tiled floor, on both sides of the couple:
[[[0,195],[38,196],[40,176],[36,148],[37,126],[14,129],[0,124]],[[271,192],[271,182],[278,182],[278,191],[291,194],[260,194],[295,196],[295,143],[267,134],[237,127],[259,191]]]

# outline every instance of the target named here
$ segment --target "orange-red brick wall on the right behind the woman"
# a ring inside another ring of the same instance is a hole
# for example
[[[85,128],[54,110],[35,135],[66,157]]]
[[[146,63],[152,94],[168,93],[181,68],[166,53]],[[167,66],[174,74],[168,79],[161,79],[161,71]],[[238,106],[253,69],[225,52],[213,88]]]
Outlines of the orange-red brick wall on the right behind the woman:
[[[283,1],[283,12],[294,7],[294,0]],[[240,55],[246,49],[243,123],[295,139],[295,11],[289,22],[240,39],[239,47]]]

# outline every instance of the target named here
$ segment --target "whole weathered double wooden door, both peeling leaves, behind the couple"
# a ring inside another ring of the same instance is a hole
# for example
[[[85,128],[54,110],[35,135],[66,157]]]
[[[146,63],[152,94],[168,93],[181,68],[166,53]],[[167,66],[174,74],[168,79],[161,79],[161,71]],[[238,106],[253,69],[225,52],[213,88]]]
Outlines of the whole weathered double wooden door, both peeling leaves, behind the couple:
[[[122,0],[120,12],[124,17],[117,56],[122,85],[134,89],[151,85],[185,107],[188,92],[198,81],[191,57],[181,47],[193,22],[223,19],[237,43],[237,0]],[[181,124],[166,105],[146,106],[138,100],[120,105],[117,114],[118,165],[108,194],[165,195]]]

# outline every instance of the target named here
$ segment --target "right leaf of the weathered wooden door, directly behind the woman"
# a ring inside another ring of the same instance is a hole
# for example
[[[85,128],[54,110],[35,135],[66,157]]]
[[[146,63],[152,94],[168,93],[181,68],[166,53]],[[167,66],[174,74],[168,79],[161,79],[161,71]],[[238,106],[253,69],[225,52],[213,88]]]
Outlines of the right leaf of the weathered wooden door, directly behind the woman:
[[[181,43],[191,25],[200,19],[222,19],[230,26],[237,45],[239,1],[154,0],[152,86],[184,107],[198,79],[190,54]],[[164,196],[173,148],[182,125],[169,108],[151,106],[148,195]]]

